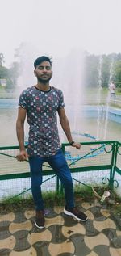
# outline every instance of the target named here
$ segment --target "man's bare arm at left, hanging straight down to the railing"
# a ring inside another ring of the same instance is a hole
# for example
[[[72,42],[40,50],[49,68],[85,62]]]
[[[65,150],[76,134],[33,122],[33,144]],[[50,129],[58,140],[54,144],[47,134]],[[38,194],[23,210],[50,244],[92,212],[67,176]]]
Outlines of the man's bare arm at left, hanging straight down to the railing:
[[[24,161],[28,157],[25,146],[24,146],[24,122],[25,122],[26,114],[27,114],[26,109],[19,107],[18,118],[16,121],[16,133],[19,141],[19,150],[20,150],[20,153],[17,156],[17,159],[19,161]]]

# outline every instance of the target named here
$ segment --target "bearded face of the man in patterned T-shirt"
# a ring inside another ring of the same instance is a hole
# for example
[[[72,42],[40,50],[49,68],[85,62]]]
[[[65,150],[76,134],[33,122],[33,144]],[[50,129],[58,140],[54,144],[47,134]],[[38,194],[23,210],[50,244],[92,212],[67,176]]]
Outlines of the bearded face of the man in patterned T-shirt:
[[[52,78],[52,66],[48,61],[43,61],[36,66],[34,73],[39,82],[46,84]]]

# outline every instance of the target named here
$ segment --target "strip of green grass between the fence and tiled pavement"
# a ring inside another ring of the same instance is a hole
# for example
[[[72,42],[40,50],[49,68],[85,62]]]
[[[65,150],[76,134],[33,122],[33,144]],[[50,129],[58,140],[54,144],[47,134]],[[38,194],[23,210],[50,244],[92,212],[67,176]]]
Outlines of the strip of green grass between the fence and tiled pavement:
[[[98,195],[102,197],[103,192],[105,190],[109,191],[108,187],[94,187],[95,191],[98,192]],[[94,192],[92,191],[91,187],[84,187],[79,185],[76,185],[74,187],[74,195],[75,195],[75,201],[76,204],[81,204],[82,202],[94,202],[96,199],[96,196],[94,195]],[[45,208],[52,208],[54,206],[64,206],[65,205],[65,195],[64,193],[56,192],[56,191],[47,191],[43,193],[43,199]],[[121,198],[119,198],[118,195],[115,194],[115,192],[111,193],[111,199],[113,199],[116,203],[119,205],[121,204]],[[18,212],[18,211],[24,211],[28,208],[34,209],[34,203],[32,196],[25,198],[25,196],[14,196],[5,198],[0,203],[0,212]]]

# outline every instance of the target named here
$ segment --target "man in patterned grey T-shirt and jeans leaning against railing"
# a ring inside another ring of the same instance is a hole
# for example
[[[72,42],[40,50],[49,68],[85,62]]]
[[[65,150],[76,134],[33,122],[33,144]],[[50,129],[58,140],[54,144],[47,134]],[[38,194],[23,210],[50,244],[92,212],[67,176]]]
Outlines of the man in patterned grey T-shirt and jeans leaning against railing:
[[[60,117],[69,144],[80,149],[73,141],[69,121],[65,114],[65,104],[61,90],[49,85],[52,78],[52,61],[46,56],[34,62],[37,84],[24,90],[19,97],[19,111],[16,131],[19,141],[19,161],[29,160],[31,171],[31,191],[35,202],[35,226],[44,228],[44,202],[41,194],[42,164],[48,162],[56,171],[65,189],[65,214],[77,220],[86,221],[87,216],[74,205],[73,181],[65,156],[60,149],[56,113]],[[27,152],[24,147],[24,121],[27,115],[29,138]]]

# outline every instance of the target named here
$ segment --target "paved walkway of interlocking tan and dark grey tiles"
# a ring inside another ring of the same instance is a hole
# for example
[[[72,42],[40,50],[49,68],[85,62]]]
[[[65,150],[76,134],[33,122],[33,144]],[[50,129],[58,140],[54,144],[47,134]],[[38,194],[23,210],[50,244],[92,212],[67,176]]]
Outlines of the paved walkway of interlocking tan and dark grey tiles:
[[[65,216],[62,207],[45,210],[45,229],[34,225],[35,211],[0,215],[0,256],[121,256],[121,213],[82,203],[86,223]]]

